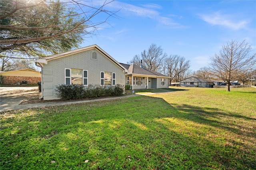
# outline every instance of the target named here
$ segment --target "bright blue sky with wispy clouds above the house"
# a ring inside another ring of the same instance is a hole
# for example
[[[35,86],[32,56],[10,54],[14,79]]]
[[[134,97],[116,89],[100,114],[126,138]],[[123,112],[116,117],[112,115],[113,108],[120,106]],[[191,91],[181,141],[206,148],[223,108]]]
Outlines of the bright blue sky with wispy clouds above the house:
[[[97,44],[120,63],[140,55],[152,43],[168,56],[190,60],[193,71],[208,66],[210,57],[228,41],[246,39],[256,52],[255,0],[116,0],[106,9],[120,10],[118,18],[109,18],[98,35],[87,38],[81,47]]]

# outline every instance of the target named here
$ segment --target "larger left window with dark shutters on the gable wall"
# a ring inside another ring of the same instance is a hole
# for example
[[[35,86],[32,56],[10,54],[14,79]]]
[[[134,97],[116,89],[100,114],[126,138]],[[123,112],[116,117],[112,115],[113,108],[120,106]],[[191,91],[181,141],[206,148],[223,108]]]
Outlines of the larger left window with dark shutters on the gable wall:
[[[88,71],[82,69],[65,69],[66,85],[88,85]]]

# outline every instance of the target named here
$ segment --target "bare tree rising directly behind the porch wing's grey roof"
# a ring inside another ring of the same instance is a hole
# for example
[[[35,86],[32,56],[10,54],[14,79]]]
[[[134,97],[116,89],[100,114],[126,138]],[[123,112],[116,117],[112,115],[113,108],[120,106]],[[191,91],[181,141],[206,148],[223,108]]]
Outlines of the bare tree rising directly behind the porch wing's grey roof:
[[[142,66],[156,72],[161,72],[161,64],[164,58],[167,56],[166,53],[164,53],[161,46],[156,46],[156,44],[152,43],[148,50],[144,50],[141,55],[135,55],[131,61],[128,62],[128,64],[136,64],[140,65],[140,60],[142,59]]]

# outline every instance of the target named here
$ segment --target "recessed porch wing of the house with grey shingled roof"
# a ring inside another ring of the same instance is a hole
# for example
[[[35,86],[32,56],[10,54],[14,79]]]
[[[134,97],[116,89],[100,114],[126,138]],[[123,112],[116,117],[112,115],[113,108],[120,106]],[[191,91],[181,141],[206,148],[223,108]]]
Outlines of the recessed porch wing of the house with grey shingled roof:
[[[126,84],[131,89],[160,89],[168,88],[169,77],[155,71],[146,69],[139,65],[128,65],[121,63],[128,73],[125,75]]]

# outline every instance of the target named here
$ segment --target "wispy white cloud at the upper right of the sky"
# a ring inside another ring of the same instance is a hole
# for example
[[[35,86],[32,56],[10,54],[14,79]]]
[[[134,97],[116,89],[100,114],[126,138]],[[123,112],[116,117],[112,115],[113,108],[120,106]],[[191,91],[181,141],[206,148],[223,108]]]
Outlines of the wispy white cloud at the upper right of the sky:
[[[237,20],[234,16],[221,14],[219,11],[212,14],[201,14],[200,18],[212,25],[220,25],[233,30],[246,29],[248,20]]]

